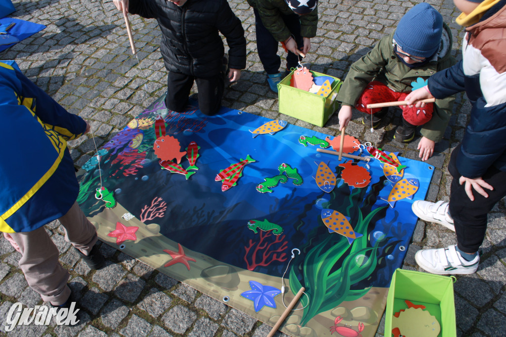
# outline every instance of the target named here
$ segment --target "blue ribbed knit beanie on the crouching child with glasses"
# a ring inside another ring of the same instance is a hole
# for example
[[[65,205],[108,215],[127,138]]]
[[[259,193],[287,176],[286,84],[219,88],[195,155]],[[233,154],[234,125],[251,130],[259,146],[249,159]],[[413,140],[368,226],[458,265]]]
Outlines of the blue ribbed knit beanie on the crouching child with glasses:
[[[443,17],[431,5],[420,3],[399,21],[394,40],[403,52],[415,57],[434,55],[441,44]]]

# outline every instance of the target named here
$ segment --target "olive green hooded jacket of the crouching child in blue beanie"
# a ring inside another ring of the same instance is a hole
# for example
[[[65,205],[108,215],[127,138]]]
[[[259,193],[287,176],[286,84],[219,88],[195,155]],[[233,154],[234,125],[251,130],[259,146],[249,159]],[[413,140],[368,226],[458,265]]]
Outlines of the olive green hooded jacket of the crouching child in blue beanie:
[[[451,31],[445,23],[443,28],[439,52],[419,68],[409,68],[394,53],[394,32],[383,37],[371,51],[351,65],[336,100],[343,105],[354,107],[368,83],[373,80],[385,83],[396,92],[409,93],[412,89],[411,82],[416,81],[418,77],[426,80],[437,71],[454,65],[455,59],[451,56]],[[431,120],[421,129],[422,136],[434,142],[439,142],[443,138],[454,101],[454,96],[436,100]]]

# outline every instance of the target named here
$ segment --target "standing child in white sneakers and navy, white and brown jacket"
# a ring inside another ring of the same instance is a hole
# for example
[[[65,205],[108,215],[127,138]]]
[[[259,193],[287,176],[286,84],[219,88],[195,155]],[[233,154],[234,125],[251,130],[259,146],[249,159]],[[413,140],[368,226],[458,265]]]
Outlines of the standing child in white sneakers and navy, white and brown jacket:
[[[487,214],[506,196],[506,0],[453,3],[462,11],[456,22],[467,27],[462,61],[406,97],[412,106],[424,98],[466,91],[472,105],[462,143],[448,165],[453,177],[450,202],[417,200],[412,205],[421,220],[442,224],[457,235],[456,245],[416,252],[418,265],[434,274],[472,274],[478,269]]]

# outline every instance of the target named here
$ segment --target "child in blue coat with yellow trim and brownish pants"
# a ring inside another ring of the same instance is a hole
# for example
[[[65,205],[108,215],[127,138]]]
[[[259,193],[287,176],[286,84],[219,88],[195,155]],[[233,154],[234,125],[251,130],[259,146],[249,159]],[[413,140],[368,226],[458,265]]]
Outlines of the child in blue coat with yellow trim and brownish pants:
[[[67,141],[87,133],[90,125],[1,62],[0,107],[0,133],[9,139],[0,156],[0,231],[21,253],[19,268],[28,285],[44,301],[69,308],[69,273],[44,225],[58,219],[65,240],[88,266],[103,266],[97,231],[76,203],[79,184],[67,149]]]

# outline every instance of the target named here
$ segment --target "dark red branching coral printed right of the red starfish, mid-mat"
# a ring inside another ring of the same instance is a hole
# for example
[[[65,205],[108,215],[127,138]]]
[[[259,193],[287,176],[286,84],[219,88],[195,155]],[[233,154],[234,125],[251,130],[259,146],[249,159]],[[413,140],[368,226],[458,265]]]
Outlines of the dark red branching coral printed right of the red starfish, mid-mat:
[[[267,240],[268,237],[274,236],[274,240]],[[254,270],[258,266],[268,266],[274,261],[284,262],[287,260],[286,253],[283,251],[288,248],[288,241],[285,240],[285,235],[272,235],[272,232],[260,231],[260,240],[253,242],[249,239],[249,245],[244,246],[246,251],[244,254],[244,261],[248,270]],[[255,249],[252,249],[254,248]],[[249,252],[251,251],[251,254]],[[279,254],[280,253],[280,254]],[[257,263],[257,257],[262,261]],[[250,259],[250,261],[248,260]]]

